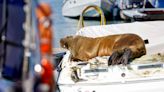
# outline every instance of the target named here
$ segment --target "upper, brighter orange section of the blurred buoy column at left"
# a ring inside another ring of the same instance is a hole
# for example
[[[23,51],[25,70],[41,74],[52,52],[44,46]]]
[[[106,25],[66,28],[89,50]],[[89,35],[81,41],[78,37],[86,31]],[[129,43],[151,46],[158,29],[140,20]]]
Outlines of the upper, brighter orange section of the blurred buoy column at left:
[[[40,37],[41,54],[52,54],[52,22],[50,19],[51,7],[46,4],[40,4],[36,9],[36,17],[38,21],[38,30]]]

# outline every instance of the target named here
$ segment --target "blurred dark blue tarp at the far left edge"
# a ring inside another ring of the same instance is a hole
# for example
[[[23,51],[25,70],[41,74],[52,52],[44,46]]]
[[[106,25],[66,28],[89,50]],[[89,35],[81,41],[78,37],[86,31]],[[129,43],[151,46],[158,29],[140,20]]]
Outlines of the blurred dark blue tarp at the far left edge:
[[[2,10],[2,4],[4,0],[0,0],[0,9]],[[24,56],[24,48],[17,44],[22,44],[24,40],[25,32],[23,30],[23,23],[25,21],[25,12],[23,10],[24,2],[23,0],[6,0],[7,1],[7,27],[5,30],[5,35],[7,41],[2,43],[5,47],[1,47],[0,51],[5,51],[3,53],[3,67],[2,76],[11,80],[20,80],[22,75],[22,64]],[[1,13],[3,13],[2,11]],[[0,14],[0,17],[2,14]],[[0,28],[2,27],[2,21],[0,20]],[[15,43],[13,45],[11,43]],[[1,46],[3,46],[1,45]]]

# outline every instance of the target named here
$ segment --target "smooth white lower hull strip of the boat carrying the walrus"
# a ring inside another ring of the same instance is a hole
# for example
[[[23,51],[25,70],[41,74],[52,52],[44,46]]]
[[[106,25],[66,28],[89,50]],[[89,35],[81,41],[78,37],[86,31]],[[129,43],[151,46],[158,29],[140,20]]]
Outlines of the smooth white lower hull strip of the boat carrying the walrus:
[[[163,80],[149,80],[136,83],[61,85],[61,92],[162,92]]]

